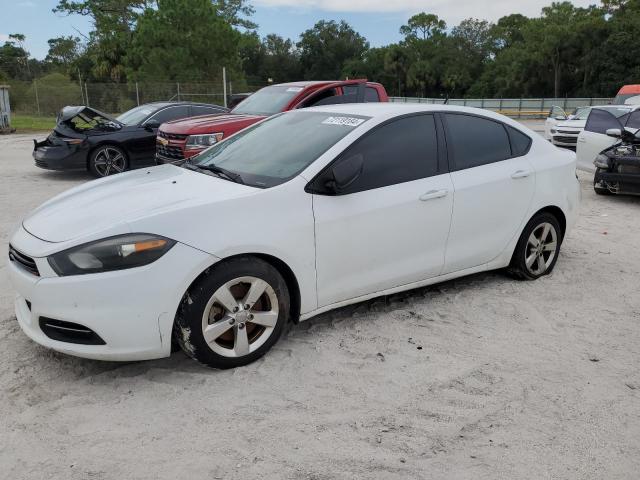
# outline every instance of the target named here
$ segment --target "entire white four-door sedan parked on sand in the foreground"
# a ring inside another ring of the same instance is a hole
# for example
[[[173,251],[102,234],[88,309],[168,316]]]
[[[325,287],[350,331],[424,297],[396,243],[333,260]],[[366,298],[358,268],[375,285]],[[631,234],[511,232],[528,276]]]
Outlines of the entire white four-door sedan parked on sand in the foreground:
[[[16,316],[36,342],[108,360],[219,368],[288,322],[508,267],[548,274],[576,220],[575,155],[486,110],[292,111],[182,166],[71,189],[10,240]]]

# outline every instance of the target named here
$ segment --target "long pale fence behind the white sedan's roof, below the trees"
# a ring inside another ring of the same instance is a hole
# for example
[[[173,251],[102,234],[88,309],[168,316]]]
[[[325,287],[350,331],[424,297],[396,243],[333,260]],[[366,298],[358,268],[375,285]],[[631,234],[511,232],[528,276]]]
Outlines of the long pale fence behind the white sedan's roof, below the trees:
[[[551,107],[558,106],[567,113],[573,113],[580,107],[608,105],[612,98],[421,98],[389,97],[396,103],[428,103],[435,105],[458,105],[484,108],[513,118],[544,118]]]

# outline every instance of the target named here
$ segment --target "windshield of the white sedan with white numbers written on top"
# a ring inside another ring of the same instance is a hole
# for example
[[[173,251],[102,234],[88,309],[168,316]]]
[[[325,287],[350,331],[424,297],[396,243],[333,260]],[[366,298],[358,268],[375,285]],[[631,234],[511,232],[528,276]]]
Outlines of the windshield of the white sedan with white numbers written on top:
[[[311,165],[370,117],[293,111],[272,117],[229,137],[196,158],[200,167],[239,174],[248,185],[280,185]]]

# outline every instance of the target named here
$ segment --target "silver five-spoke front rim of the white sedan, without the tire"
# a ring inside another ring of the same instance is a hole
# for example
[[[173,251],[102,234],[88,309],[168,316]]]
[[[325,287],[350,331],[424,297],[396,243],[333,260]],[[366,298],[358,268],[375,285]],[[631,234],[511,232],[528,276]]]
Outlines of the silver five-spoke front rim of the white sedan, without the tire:
[[[218,355],[243,357],[267,341],[278,316],[273,287],[257,277],[240,277],[211,296],[202,315],[202,334]]]

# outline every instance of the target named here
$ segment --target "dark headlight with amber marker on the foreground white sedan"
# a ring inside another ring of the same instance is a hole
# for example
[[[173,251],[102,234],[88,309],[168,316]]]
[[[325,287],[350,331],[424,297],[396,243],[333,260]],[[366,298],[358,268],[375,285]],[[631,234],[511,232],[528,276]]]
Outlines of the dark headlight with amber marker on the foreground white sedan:
[[[155,262],[175,243],[158,235],[128,233],[70,248],[48,260],[60,276],[109,272]]]

